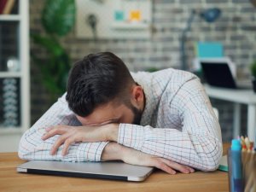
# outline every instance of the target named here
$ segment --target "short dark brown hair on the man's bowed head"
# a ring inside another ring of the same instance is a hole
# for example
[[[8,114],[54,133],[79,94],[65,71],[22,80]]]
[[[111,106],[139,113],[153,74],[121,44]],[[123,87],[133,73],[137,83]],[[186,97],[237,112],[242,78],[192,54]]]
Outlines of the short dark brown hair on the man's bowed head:
[[[114,100],[125,102],[135,83],[125,63],[110,52],[90,54],[74,64],[67,82],[68,107],[81,117]]]

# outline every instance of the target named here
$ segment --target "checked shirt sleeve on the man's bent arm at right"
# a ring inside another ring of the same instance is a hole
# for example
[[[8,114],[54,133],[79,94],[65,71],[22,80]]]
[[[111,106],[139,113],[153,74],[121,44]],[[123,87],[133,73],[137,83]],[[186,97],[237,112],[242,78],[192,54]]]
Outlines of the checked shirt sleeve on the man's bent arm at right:
[[[118,143],[202,171],[217,169],[223,150],[220,127],[199,80],[183,84],[170,105],[176,106],[182,131],[121,124]]]

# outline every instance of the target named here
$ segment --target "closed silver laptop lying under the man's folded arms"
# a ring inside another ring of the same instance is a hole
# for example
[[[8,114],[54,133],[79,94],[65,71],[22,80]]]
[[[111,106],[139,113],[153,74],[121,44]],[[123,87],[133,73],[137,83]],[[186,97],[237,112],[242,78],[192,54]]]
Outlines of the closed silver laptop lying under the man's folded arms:
[[[153,167],[133,166],[121,161],[63,162],[32,160],[17,166],[17,172],[68,177],[106,178],[137,182],[145,180],[153,170]]]

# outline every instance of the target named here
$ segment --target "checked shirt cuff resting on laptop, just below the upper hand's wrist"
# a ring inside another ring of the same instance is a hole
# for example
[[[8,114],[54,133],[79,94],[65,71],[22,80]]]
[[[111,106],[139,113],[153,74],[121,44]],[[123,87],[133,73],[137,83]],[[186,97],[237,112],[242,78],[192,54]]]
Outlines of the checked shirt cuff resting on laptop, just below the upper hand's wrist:
[[[108,142],[80,143],[77,152],[78,161],[101,161],[102,151]]]

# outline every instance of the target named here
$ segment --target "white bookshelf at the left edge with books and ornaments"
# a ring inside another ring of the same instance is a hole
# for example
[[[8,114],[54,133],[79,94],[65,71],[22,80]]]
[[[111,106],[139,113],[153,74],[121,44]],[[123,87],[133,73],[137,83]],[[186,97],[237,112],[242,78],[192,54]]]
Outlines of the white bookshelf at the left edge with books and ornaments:
[[[8,1],[14,6],[0,15],[0,152],[17,151],[30,127],[28,0]]]

